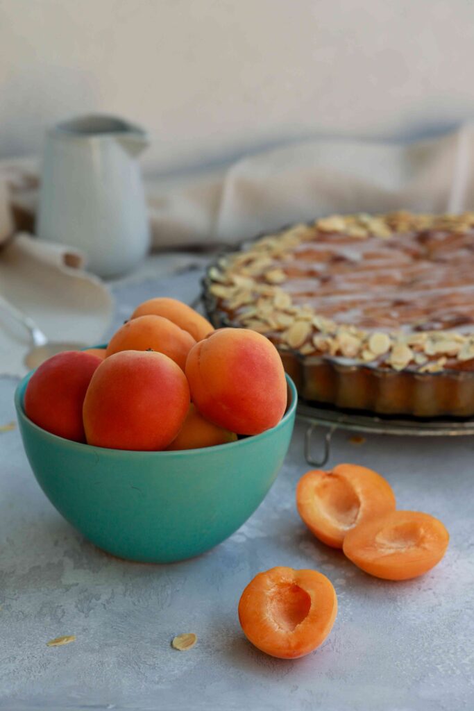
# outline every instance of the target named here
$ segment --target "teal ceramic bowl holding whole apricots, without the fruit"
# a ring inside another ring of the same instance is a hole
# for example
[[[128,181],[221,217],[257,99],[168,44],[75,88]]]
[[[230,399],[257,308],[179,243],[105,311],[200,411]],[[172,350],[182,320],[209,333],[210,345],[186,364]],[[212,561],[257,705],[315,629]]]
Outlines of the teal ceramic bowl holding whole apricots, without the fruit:
[[[254,437],[184,451],[126,451],[78,444],[33,424],[23,410],[31,373],[15,393],[33,474],[59,513],[99,548],[127,560],[168,563],[200,555],[234,533],[264,500],[288,451],[296,415]]]

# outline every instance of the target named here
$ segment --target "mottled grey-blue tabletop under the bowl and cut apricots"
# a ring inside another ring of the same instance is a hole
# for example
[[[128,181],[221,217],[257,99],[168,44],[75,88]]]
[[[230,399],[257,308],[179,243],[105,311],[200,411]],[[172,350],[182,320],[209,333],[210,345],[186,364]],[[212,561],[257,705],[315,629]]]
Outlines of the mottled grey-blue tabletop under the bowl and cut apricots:
[[[153,294],[188,301],[199,272],[114,287],[116,324]],[[161,270],[162,272],[162,270]],[[0,424],[14,419],[16,382],[0,378]],[[303,527],[294,505],[303,423],[262,506],[222,545],[175,565],[116,560],[72,530],[47,501],[18,430],[0,433],[0,708],[165,711],[460,711],[474,707],[474,439],[335,434],[329,465],[355,461],[392,484],[399,508],[443,520],[451,544],[420,579],[390,583],[352,566]],[[306,658],[264,656],[244,638],[239,595],[274,565],[332,580],[339,613]],[[174,635],[198,644],[180,653]],[[55,636],[68,646],[48,648]]]

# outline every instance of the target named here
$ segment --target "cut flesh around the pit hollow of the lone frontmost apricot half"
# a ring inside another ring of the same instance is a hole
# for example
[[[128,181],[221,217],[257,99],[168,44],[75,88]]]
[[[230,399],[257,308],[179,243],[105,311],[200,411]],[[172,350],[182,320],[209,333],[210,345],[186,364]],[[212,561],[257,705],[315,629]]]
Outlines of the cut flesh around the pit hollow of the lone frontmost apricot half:
[[[272,596],[286,588],[291,597],[295,586],[308,596],[309,607],[301,622],[289,630],[274,619]],[[244,635],[254,646],[273,657],[296,659],[314,651],[333,629],[338,598],[330,580],[316,570],[274,567],[249,582],[238,611]]]

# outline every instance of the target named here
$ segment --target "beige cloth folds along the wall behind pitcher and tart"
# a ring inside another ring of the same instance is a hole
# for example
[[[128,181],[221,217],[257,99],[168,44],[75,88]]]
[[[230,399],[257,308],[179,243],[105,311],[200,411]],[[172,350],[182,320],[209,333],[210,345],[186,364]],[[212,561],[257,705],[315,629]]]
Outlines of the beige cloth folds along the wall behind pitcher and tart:
[[[303,141],[173,180],[153,178],[149,166],[153,247],[235,245],[263,230],[335,212],[472,209],[473,159],[474,127],[465,125],[409,144]],[[34,161],[5,166],[16,178],[14,207],[24,215],[35,204]]]

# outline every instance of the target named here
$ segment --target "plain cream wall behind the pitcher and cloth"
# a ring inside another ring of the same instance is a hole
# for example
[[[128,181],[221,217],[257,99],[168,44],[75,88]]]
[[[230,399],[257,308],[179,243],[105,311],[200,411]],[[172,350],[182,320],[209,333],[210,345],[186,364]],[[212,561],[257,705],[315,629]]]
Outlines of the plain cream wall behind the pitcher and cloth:
[[[156,169],[309,135],[406,137],[474,115],[470,0],[0,0],[0,156],[124,114]]]

